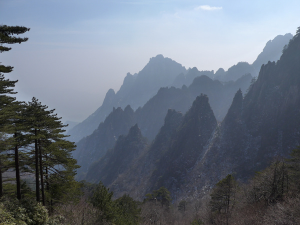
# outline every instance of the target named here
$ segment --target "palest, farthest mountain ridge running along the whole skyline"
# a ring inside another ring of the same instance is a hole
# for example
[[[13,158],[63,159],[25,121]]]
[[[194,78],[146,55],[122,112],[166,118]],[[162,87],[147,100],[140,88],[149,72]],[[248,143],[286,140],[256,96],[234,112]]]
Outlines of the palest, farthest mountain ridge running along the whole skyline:
[[[276,61],[279,59],[283,46],[291,38],[292,35],[287,33],[269,40],[252,65],[247,62],[238,62],[227,71],[220,68],[215,73],[213,70],[198,71],[196,68],[186,70],[181,64],[162,55],[152,57],[138,73],[133,75],[127,73],[123,84],[116,93],[113,89],[109,89],[102,105],[85,120],[69,129],[67,133],[70,135],[69,139],[76,142],[82,137],[91,134],[98,127],[99,123],[104,121],[113,107],[120,106],[121,108],[125,108],[129,104],[131,108],[136,110],[153,97],[160,87],[174,86],[181,88],[182,85],[189,86],[193,79],[199,75],[207,75],[211,79],[218,79],[220,81],[235,81],[246,73],[257,76],[259,68],[263,63],[267,63],[268,60]],[[226,107],[229,107],[229,105]]]

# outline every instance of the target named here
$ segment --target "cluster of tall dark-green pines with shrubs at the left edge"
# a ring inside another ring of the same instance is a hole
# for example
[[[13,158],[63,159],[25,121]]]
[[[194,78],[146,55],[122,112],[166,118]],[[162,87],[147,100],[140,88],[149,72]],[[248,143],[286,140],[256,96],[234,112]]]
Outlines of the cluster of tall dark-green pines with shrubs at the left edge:
[[[11,49],[3,44],[26,41],[18,35],[28,30],[0,25],[0,53]],[[74,180],[79,166],[71,157],[75,145],[65,139],[54,109],[35,97],[28,103],[16,100],[17,80],[4,76],[12,69],[0,64],[0,224],[53,224],[48,209],[75,202],[81,193]],[[34,195],[36,201],[28,201]]]

